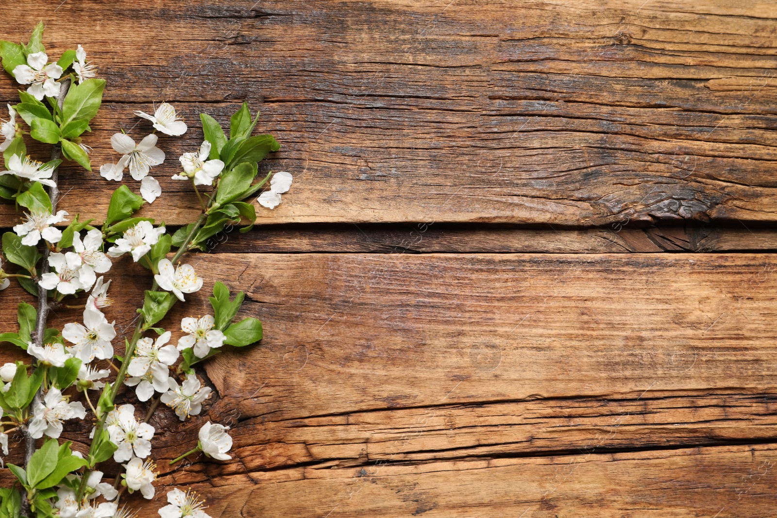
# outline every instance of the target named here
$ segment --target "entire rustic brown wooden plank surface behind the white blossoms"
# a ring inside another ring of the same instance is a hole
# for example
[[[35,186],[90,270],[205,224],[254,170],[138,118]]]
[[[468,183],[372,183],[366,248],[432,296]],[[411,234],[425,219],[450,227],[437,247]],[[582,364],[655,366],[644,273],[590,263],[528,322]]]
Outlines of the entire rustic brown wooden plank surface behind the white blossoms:
[[[261,170],[294,175],[190,259],[265,339],[198,371],[199,418],[152,422],[141,516],[161,485],[214,518],[775,516],[775,3],[57,3],[6,6],[3,34],[42,19],[98,64],[94,163],[152,101],[190,123],[145,214],[193,219],[175,159],[243,100],[283,145]],[[115,184],[62,176],[63,208],[104,214]],[[148,277],[121,264],[128,329]],[[2,297],[15,329],[26,295]],[[235,458],[169,468],[207,419]]]

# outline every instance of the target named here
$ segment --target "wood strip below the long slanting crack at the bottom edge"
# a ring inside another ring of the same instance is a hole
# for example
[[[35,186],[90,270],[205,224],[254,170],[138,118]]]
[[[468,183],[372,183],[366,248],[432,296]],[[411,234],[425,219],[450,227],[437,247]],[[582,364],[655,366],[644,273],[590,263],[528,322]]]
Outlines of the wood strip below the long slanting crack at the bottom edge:
[[[298,468],[194,485],[212,516],[771,516],[777,452],[719,447]],[[188,475],[188,474],[187,474]],[[151,516],[149,514],[149,516]]]

